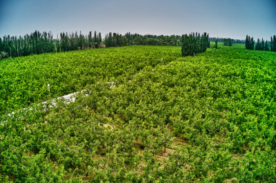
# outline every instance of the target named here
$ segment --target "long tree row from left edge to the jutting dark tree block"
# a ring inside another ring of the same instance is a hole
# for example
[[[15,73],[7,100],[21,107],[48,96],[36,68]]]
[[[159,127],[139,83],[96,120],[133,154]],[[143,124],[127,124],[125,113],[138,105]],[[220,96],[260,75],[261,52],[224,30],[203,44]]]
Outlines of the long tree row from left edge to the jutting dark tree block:
[[[0,38],[0,58],[28,56],[30,54],[43,54],[49,52],[68,52],[72,50],[86,50],[100,47],[121,47],[126,45],[172,45],[181,46],[181,36],[171,35],[125,35],[108,33],[101,38],[101,32],[88,35],[81,32],[61,32],[53,39],[52,32],[34,31],[25,36],[3,36]]]

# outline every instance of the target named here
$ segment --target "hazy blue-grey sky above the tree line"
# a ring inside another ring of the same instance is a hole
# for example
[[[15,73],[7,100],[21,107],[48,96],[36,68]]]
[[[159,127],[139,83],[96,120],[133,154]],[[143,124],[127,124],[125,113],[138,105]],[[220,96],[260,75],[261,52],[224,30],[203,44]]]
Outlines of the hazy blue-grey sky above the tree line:
[[[270,39],[276,0],[0,0],[0,36],[34,30]]]

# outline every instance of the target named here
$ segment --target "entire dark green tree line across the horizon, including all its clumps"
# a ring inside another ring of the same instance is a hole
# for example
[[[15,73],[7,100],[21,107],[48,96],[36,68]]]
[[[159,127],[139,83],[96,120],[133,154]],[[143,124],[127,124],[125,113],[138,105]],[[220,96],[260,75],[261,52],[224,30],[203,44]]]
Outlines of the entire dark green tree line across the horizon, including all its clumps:
[[[57,38],[53,39],[52,32],[34,31],[25,36],[3,36],[0,38],[0,58],[8,56],[27,56],[30,54],[43,54],[49,52],[67,52],[72,50],[86,50],[100,47],[121,47],[126,45],[171,45],[182,46],[183,55],[193,55],[193,53],[205,52],[206,44],[210,47],[210,41],[223,42],[224,45],[233,43],[243,43],[239,39],[209,38],[208,34],[202,35],[192,33],[189,35],[152,35],[152,34],[130,34],[122,35],[117,33],[108,33],[104,39],[101,38],[101,32],[94,34],[90,31],[88,35],[81,32],[61,32]],[[276,49],[275,36],[271,37],[271,44],[257,41],[256,50]],[[266,41],[267,42],[267,41]],[[254,50],[255,42],[250,36],[246,36],[246,49]],[[273,44],[274,43],[274,44]],[[184,45],[185,44],[185,45]],[[272,51],[271,50],[271,51]]]

